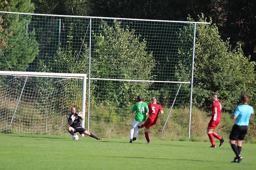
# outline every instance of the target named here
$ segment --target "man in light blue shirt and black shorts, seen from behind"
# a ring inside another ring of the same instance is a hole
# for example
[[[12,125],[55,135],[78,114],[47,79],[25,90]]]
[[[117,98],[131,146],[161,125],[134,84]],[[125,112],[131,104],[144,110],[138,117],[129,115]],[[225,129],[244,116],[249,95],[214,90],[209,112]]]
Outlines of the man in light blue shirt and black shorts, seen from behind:
[[[229,143],[236,154],[235,159],[232,163],[240,163],[243,157],[240,155],[242,150],[242,142],[248,130],[249,119],[252,114],[254,114],[252,106],[248,105],[249,96],[247,94],[242,94],[241,103],[236,107],[236,110],[231,119],[235,119],[235,124],[229,135]],[[237,146],[236,146],[237,142]]]

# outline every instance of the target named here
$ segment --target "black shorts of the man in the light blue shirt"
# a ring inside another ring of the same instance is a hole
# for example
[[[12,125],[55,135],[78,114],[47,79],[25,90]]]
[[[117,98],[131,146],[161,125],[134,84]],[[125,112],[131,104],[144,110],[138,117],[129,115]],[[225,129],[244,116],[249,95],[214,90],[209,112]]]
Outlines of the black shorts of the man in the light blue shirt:
[[[229,139],[231,140],[244,140],[244,137],[247,133],[248,130],[248,126],[239,126],[237,124],[234,124],[230,135],[229,135]]]

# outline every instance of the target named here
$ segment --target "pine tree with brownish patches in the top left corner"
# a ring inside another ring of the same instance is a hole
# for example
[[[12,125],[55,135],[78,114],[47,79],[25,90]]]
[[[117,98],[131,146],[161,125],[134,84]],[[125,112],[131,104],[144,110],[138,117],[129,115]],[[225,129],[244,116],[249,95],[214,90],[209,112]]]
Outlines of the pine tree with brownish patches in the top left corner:
[[[30,12],[34,5],[30,0],[5,0],[1,11]],[[31,16],[4,14],[0,17],[0,70],[24,71],[38,53],[34,31],[26,30]],[[27,32],[27,33],[26,33]],[[4,56],[3,56],[4,54]]]

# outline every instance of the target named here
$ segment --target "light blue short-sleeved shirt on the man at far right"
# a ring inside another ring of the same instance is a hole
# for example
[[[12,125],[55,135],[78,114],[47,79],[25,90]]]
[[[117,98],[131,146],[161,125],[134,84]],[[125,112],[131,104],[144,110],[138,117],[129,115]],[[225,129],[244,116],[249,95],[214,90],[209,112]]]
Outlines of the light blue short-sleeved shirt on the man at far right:
[[[252,106],[248,104],[242,104],[236,107],[234,115],[237,116],[235,124],[239,126],[248,126],[249,119],[253,113]]]

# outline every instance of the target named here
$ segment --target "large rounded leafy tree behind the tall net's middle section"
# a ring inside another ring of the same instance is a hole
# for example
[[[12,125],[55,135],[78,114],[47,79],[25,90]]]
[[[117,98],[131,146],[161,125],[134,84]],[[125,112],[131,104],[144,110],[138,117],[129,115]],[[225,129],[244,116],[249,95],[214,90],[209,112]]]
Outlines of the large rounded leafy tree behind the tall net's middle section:
[[[114,20],[113,25],[102,21],[100,30],[93,33],[95,47],[92,53],[92,75],[97,78],[151,80],[155,66],[154,57],[147,52],[146,41],[135,34],[128,26],[121,27],[121,22]],[[129,81],[96,81],[99,91],[95,97],[100,101],[123,102],[139,94],[147,94],[151,83]],[[100,87],[104,84],[104,88]],[[111,96],[111,98],[109,97]]]

